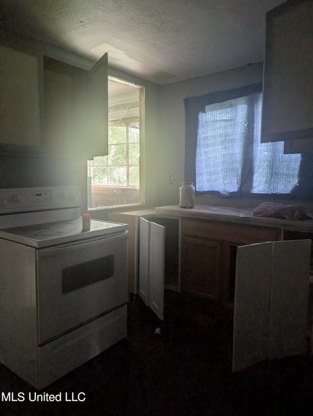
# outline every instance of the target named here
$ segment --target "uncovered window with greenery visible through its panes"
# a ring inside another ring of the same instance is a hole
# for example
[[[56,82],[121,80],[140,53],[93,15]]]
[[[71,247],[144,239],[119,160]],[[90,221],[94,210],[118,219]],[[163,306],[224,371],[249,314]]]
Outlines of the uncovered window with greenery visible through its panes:
[[[88,161],[88,208],[143,204],[143,87],[109,79],[109,154]]]

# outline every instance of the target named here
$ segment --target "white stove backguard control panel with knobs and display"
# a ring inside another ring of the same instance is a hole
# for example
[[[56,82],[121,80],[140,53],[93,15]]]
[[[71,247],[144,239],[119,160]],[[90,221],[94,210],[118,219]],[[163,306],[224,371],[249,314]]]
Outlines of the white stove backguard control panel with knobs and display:
[[[0,189],[0,214],[79,208],[80,205],[77,186]]]

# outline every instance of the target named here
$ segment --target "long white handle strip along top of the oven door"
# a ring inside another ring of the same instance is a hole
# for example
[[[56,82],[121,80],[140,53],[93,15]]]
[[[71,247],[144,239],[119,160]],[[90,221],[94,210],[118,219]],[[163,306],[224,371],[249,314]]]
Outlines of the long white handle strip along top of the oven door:
[[[37,258],[39,257],[46,257],[50,255],[60,255],[60,254],[67,254],[72,253],[77,250],[89,249],[95,246],[105,246],[108,244],[112,244],[118,241],[122,241],[128,239],[129,233],[128,231],[123,231],[120,234],[114,235],[102,235],[99,237],[94,237],[90,240],[79,240],[73,241],[62,246],[55,246],[49,248],[43,248],[36,250]]]

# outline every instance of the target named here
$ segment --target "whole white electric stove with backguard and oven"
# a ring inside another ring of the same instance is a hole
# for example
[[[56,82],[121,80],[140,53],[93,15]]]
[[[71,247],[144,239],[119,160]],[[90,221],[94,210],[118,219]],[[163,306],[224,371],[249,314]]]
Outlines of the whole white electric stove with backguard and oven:
[[[127,335],[126,224],[75,186],[0,189],[0,361],[43,388]]]

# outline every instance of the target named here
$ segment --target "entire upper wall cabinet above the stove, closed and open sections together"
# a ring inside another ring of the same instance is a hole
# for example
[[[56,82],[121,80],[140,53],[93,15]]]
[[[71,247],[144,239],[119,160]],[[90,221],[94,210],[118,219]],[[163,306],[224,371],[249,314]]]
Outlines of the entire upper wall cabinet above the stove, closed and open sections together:
[[[88,71],[0,46],[0,153],[90,160],[108,154],[108,56]]]

